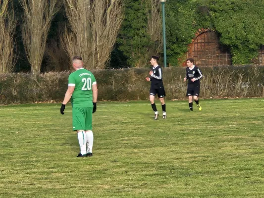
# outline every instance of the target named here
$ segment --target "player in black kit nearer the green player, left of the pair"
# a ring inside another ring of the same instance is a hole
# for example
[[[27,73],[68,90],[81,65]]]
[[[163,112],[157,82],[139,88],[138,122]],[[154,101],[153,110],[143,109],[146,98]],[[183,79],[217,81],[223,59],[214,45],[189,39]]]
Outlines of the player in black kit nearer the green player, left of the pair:
[[[166,96],[163,82],[162,82],[162,69],[158,65],[158,56],[152,56],[151,58],[151,64],[153,65],[152,70],[150,71],[150,78],[146,77],[147,81],[151,81],[151,88],[150,88],[150,101],[151,101],[151,106],[152,109],[155,112],[155,117],[154,119],[158,119],[158,110],[156,107],[156,104],[154,102],[156,94],[158,94],[158,98],[161,102],[161,107],[163,111],[162,119],[166,119],[166,104],[164,97]]]

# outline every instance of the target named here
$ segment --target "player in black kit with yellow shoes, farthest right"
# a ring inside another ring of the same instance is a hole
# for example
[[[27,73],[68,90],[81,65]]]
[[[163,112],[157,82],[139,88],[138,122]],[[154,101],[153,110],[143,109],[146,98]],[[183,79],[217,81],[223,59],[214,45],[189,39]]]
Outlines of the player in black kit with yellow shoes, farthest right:
[[[199,104],[199,94],[200,94],[200,79],[203,78],[201,70],[195,66],[194,59],[188,58],[186,60],[187,68],[184,82],[188,79],[187,93],[186,96],[189,97],[189,107],[190,112],[193,111],[193,99],[197,104],[198,109],[201,111],[202,107]]]

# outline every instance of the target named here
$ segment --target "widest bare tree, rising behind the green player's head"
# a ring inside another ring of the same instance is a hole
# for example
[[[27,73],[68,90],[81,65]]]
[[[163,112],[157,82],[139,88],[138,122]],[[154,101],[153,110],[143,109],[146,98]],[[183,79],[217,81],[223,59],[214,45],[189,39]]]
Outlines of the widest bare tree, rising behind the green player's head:
[[[65,0],[70,58],[81,55],[89,69],[105,68],[123,20],[123,0]]]

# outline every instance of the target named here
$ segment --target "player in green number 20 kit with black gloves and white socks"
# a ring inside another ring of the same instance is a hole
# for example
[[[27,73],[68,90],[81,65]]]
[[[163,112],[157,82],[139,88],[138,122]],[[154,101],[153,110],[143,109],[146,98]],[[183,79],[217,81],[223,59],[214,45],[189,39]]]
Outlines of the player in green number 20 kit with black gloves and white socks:
[[[97,84],[94,75],[83,68],[82,57],[72,58],[75,72],[69,75],[68,90],[60,107],[64,114],[65,105],[71,99],[72,129],[77,131],[80,153],[77,157],[93,156],[94,135],[92,131],[92,117],[96,112]]]

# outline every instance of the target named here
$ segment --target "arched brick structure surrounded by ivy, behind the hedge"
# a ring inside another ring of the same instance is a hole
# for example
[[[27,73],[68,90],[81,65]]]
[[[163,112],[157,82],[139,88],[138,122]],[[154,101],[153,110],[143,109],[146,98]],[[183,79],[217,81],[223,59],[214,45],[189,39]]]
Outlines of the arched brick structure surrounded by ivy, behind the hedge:
[[[216,32],[199,29],[189,45],[187,58],[192,57],[197,66],[231,65],[230,49],[220,44]]]

